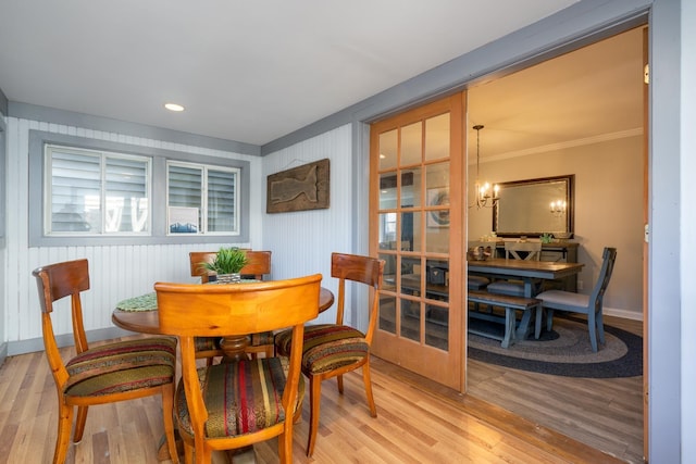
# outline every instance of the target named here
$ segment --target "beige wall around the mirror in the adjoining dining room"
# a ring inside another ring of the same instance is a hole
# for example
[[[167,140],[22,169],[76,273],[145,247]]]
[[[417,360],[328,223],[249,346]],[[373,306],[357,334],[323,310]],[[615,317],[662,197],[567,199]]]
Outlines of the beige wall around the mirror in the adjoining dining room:
[[[616,247],[617,265],[605,297],[606,312],[642,318],[642,136],[636,135],[482,163],[481,177],[489,181],[510,181],[574,174],[573,231],[580,243],[579,261],[585,263],[579,277],[584,284],[582,292],[587,293],[597,278],[604,247]],[[489,234],[490,228],[489,209],[469,210],[470,239]]]

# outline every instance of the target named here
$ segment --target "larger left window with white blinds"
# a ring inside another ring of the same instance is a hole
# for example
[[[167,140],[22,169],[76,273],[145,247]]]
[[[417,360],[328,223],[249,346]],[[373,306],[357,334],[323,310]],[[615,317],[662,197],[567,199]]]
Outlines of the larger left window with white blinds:
[[[150,158],[47,145],[46,163],[46,235],[150,235]]]

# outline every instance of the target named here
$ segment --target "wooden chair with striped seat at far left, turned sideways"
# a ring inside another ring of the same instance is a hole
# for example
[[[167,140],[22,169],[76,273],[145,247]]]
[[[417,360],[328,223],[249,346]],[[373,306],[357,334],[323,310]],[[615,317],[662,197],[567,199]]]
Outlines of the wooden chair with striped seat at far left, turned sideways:
[[[58,390],[58,438],[53,463],[63,463],[70,444],[74,409],[77,418],[73,442],[82,440],[87,410],[97,404],[113,403],[159,394],[162,397],[164,435],[173,462],[177,463],[174,441],[174,374],[176,340],[172,337],[148,337],[90,347],[83,324],[80,294],[89,290],[87,260],[67,261],[34,271],[39,302],[46,358]],[[70,305],[54,304],[70,297]],[[53,333],[53,311],[71,310],[73,338],[77,354],[64,360]]]

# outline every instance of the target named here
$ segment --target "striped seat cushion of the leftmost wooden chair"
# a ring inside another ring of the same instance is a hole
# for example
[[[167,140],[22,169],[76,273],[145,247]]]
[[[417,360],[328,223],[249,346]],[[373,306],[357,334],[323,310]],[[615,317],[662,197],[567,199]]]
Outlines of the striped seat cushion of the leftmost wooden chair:
[[[64,393],[72,397],[111,394],[156,387],[174,379],[176,339],[151,337],[91,348],[65,365]]]

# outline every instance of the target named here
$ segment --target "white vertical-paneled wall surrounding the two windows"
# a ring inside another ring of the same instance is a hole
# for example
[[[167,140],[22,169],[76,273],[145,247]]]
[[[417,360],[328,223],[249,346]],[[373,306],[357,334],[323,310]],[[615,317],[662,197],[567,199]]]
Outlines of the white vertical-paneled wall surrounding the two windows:
[[[7,250],[4,254],[5,331],[3,340],[12,343],[35,340],[41,337],[38,292],[32,271],[40,265],[59,261],[87,258],[90,264],[91,289],[83,303],[88,330],[112,327],[111,312],[115,303],[125,298],[152,291],[158,280],[195,281],[189,274],[188,252],[191,250],[216,250],[222,243],[206,244],[149,244],[149,246],[105,246],[105,247],[47,247],[29,248],[27,201],[29,189],[41,186],[28,183],[28,134],[30,129],[67,134],[100,140],[111,140],[144,147],[221,158],[243,159],[251,163],[251,224],[252,238],[240,246],[262,248],[260,227],[262,221],[261,159],[238,153],[223,152],[200,147],[183,146],[159,140],[142,139],[113,133],[88,130],[79,127],[46,124],[10,117],[8,120],[8,208]],[[1,273],[0,273],[1,275]],[[71,331],[70,314],[65,313],[55,327],[57,333]],[[15,343],[21,344],[21,343]]]

